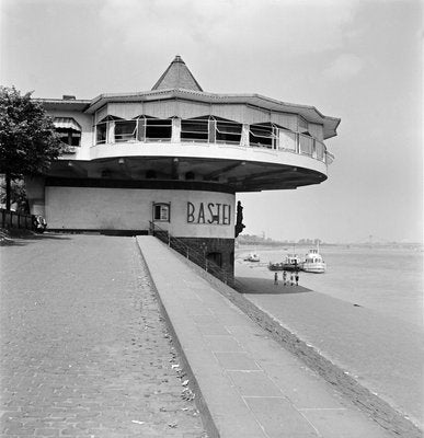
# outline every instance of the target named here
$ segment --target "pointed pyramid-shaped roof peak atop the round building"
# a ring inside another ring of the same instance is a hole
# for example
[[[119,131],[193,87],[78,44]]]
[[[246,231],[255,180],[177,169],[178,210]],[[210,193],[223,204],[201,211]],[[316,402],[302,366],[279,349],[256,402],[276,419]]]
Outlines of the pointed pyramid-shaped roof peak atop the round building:
[[[202,87],[194,79],[194,76],[179,55],[175,56],[174,60],[170,64],[151,90],[170,89],[203,91]]]

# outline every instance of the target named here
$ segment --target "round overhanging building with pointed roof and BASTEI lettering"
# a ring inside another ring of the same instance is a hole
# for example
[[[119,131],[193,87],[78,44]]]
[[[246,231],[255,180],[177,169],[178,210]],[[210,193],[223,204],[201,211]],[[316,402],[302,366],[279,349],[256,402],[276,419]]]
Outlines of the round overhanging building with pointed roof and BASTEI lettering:
[[[27,178],[50,230],[148,232],[233,268],[236,193],[326,180],[339,118],[257,94],[204,92],[180,56],[151,91],[41,99],[69,151]]]

